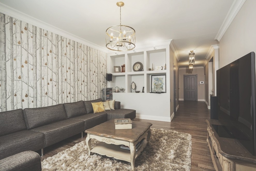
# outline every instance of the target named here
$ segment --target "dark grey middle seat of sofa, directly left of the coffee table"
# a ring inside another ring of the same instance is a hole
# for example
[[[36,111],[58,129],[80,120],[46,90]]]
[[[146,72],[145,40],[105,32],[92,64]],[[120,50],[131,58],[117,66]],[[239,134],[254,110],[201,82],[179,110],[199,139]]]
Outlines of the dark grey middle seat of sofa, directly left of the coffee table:
[[[31,129],[44,134],[44,147],[84,132],[84,121],[66,119]]]

